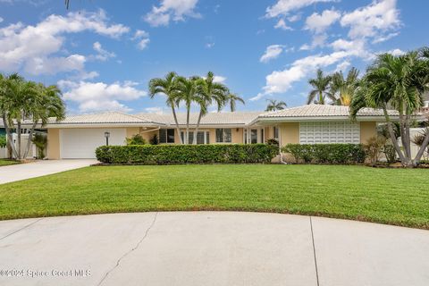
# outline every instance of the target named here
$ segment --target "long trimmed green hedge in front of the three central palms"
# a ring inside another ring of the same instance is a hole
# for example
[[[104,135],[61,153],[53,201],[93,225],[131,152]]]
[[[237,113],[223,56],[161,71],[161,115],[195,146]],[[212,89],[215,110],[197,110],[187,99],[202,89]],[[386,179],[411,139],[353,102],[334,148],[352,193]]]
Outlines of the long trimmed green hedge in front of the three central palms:
[[[278,147],[267,144],[129,145],[97,147],[105,164],[270,163]]]

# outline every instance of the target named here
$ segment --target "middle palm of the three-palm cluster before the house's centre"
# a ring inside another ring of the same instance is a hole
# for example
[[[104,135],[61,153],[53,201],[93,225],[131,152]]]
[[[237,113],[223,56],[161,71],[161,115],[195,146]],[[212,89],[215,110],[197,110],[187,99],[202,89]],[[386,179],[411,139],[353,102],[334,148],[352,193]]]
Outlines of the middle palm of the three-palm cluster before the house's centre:
[[[178,78],[179,96],[176,99],[176,104],[179,105],[181,102],[184,102],[186,107],[186,132],[184,136],[184,141],[185,141],[184,144],[189,144],[190,107],[192,103],[196,101],[196,97],[198,95],[199,79],[200,78],[197,76],[190,77],[190,78],[184,78],[184,77]]]

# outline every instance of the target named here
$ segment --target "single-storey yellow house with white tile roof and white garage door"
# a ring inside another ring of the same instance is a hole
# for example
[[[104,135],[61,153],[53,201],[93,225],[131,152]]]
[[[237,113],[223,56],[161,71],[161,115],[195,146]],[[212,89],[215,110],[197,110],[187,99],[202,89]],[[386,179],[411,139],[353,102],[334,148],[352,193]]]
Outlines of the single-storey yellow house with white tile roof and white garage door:
[[[397,113],[390,112],[397,120]],[[125,139],[140,134],[147,141],[158,136],[160,144],[179,144],[186,129],[186,114],[178,114],[181,135],[177,134],[171,114],[122,114],[106,112],[67,116],[61,122],[46,124],[49,159],[94,158],[95,149],[105,145],[124,145]],[[190,116],[190,139],[194,136],[198,114]],[[377,122],[384,122],[383,112],[371,108],[357,114],[350,122],[349,107],[338,105],[303,105],[278,112],[210,113],[201,120],[198,144],[264,143],[278,139],[288,143],[365,143],[376,135]]]

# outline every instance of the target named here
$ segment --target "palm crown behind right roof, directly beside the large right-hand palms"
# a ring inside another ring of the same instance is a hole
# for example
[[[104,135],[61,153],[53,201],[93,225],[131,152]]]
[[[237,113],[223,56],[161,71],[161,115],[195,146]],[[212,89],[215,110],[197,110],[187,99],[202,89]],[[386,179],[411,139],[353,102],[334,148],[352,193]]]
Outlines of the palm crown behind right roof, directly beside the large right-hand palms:
[[[359,84],[359,71],[351,68],[344,78],[342,71],[337,71],[332,75],[330,85],[333,105],[349,106]]]

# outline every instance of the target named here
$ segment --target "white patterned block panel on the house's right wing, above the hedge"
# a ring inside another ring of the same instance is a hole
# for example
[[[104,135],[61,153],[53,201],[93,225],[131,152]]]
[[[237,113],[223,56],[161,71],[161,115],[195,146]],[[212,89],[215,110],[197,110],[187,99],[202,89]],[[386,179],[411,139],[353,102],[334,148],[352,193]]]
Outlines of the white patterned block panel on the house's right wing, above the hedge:
[[[301,122],[300,144],[359,143],[359,124],[351,122]]]

